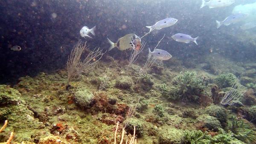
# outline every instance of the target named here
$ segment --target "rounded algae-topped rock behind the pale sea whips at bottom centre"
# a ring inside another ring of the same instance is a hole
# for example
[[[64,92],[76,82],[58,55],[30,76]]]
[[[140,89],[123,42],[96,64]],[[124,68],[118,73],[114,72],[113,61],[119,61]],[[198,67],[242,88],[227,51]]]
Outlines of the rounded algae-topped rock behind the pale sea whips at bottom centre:
[[[131,118],[130,121],[128,121],[127,126],[125,127],[126,132],[133,135],[134,133],[134,126],[135,126],[135,134],[138,138],[142,137],[144,130],[143,130],[143,121],[140,121],[137,118]]]

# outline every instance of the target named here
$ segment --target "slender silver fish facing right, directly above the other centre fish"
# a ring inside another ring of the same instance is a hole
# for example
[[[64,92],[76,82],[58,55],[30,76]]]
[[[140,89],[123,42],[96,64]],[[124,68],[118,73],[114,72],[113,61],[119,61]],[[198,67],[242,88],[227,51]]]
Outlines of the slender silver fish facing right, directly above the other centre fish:
[[[169,26],[172,26],[172,25],[175,25],[175,23],[177,23],[177,19],[175,18],[166,18],[166,19],[163,19],[163,20],[160,20],[158,21],[157,23],[155,23],[153,26],[146,26],[150,31],[152,31],[152,29],[157,29],[157,30],[160,30],[162,28],[166,28],[166,27],[169,27]]]

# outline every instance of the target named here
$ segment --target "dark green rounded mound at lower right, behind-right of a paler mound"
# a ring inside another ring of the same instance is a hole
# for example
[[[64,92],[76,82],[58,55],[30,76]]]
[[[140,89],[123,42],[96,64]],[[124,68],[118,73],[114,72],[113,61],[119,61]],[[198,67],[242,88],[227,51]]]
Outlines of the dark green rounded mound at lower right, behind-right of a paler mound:
[[[207,107],[205,110],[207,114],[217,118],[221,123],[227,122],[227,112],[223,107],[211,105]]]

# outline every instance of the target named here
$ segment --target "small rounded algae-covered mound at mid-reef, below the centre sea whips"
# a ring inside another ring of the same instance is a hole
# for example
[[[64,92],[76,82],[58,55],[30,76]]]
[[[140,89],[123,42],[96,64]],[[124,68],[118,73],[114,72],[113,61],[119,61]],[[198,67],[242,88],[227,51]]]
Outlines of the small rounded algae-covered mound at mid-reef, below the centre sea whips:
[[[132,79],[129,76],[116,78],[116,87],[119,89],[129,89],[132,86]]]

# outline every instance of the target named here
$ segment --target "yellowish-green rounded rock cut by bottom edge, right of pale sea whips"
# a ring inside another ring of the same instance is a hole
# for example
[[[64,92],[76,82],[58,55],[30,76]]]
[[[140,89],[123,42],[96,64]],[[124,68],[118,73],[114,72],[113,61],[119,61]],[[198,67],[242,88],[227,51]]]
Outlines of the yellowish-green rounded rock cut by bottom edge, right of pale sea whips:
[[[158,134],[160,144],[182,144],[184,141],[183,130],[178,130],[175,128],[166,128],[160,130]]]

